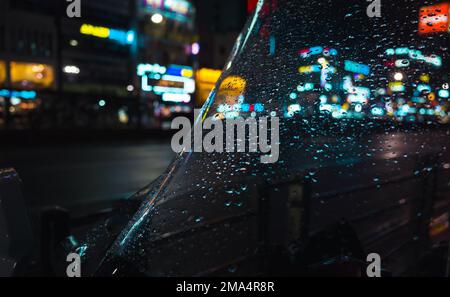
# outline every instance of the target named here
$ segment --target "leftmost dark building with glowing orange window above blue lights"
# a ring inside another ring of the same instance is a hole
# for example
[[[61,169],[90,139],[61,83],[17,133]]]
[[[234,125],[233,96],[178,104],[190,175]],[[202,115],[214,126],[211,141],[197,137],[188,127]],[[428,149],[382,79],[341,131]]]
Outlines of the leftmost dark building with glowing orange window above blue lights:
[[[50,4],[0,1],[0,128],[32,126],[34,111],[55,90],[57,31]]]

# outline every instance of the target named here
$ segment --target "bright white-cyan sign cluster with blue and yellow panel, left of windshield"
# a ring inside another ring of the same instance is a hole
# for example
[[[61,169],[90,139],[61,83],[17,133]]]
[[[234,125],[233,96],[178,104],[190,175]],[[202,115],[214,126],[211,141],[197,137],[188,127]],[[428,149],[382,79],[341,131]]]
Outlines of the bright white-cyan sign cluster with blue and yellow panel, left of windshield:
[[[137,74],[142,90],[161,96],[164,102],[189,103],[195,93],[194,71],[189,66],[139,64]]]

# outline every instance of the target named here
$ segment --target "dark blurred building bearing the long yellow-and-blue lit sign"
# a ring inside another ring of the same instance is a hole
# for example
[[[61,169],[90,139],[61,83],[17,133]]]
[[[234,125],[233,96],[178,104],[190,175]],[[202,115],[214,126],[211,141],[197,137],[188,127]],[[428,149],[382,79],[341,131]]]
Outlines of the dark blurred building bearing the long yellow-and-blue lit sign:
[[[59,114],[75,128],[137,128],[135,1],[82,5],[81,18],[68,18],[60,11],[59,73],[66,104]]]

